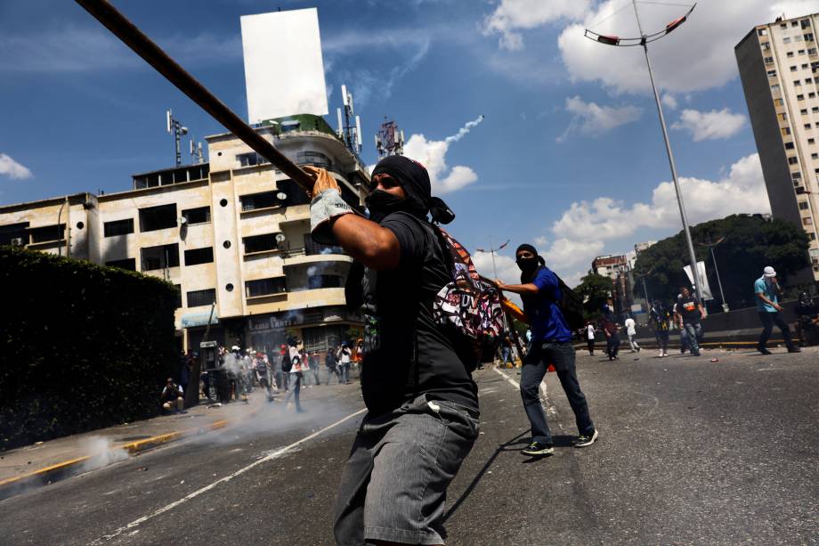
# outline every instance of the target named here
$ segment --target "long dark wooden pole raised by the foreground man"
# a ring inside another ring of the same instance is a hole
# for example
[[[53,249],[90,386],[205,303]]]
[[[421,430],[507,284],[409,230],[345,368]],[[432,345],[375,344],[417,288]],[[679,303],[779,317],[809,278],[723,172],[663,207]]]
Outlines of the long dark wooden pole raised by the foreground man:
[[[260,156],[267,159],[273,166],[278,167],[281,172],[288,175],[294,182],[305,191],[312,191],[312,176],[304,172],[283,153],[267,142],[261,134],[248,126],[233,111],[225,106],[222,101],[211,94],[205,86],[199,83],[185,69],[182,69],[162,48],[156,45],[149,37],[137,29],[134,23],[118,12],[107,0],[76,0],[85,8],[86,12],[99,20],[106,29],[109,29],[114,36],[122,40],[128,47],[134,50],[150,66],[168,79],[182,93],[188,95],[191,101],[196,102],[216,121],[221,123],[228,131],[239,137],[244,143],[258,152]]]

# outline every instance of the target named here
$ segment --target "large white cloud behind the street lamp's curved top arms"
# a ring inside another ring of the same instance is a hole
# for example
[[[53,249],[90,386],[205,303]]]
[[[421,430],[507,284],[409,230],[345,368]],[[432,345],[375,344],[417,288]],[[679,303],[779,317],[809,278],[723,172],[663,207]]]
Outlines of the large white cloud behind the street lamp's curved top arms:
[[[650,84],[642,48],[601,45],[583,36],[590,27],[601,34],[638,37],[633,10],[623,9],[604,20],[623,5],[621,0],[598,4],[568,25],[557,43],[572,80],[599,81],[618,93],[645,93]],[[649,46],[658,86],[685,93],[726,84],[737,76],[734,45],[754,26],[774,20],[783,10],[791,17],[813,13],[819,11],[819,1],[701,2],[683,26]],[[684,11],[671,5],[640,4],[647,33],[663,29]]]

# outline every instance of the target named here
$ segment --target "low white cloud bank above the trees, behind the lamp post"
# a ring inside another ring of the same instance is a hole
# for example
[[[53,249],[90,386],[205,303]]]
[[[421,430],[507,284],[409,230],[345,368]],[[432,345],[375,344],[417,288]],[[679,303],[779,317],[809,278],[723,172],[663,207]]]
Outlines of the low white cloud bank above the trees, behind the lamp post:
[[[692,224],[732,214],[770,212],[758,154],[738,160],[716,182],[683,177],[680,184]],[[552,224],[550,231],[555,240],[543,255],[547,264],[565,275],[564,280],[573,286],[568,279],[579,281],[594,257],[617,251],[607,249],[607,241],[628,238],[646,228],[674,232],[681,229],[673,183],[658,184],[651,202],[627,205],[599,197],[572,203]],[[631,244],[628,243],[629,248]]]

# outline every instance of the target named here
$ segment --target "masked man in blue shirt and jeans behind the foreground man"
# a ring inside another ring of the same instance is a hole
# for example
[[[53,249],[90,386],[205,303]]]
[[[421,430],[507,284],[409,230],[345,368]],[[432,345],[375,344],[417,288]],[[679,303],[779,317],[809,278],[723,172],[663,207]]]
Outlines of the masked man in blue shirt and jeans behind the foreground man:
[[[580,391],[574,367],[572,330],[557,305],[562,296],[560,283],[533,246],[521,245],[515,251],[515,257],[521,269],[521,284],[496,283],[501,290],[521,295],[523,315],[517,318],[531,325],[531,349],[523,359],[521,371],[521,397],[531,424],[531,444],[523,450],[523,454],[543,456],[555,452],[552,433],[539,398],[540,381],[546,375],[549,364],[555,366],[557,378],[574,412],[580,433],[575,447],[594,444],[597,430],[588,416],[586,396]]]

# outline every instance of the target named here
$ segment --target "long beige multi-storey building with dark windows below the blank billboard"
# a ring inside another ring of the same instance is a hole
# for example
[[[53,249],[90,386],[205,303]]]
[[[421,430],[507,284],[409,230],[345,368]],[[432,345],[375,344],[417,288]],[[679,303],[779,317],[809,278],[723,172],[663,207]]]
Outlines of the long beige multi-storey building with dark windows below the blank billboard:
[[[369,173],[323,118],[256,131],[297,164],[327,168],[361,210]],[[220,344],[268,350],[295,336],[321,351],[359,329],[345,309],[352,258],[312,240],[304,190],[232,134],[207,144],[209,163],[134,175],[128,192],[0,207],[0,244],[166,279],[181,292],[185,348],[197,350],[208,322]]]

